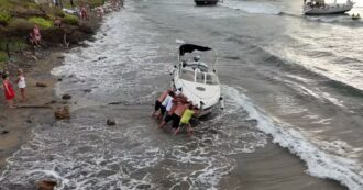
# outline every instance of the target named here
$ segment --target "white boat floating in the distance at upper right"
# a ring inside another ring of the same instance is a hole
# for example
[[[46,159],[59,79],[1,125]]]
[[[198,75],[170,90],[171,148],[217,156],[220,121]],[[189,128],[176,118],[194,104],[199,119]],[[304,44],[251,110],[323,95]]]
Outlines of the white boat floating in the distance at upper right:
[[[345,3],[326,3],[324,0],[304,0],[304,14],[338,14],[350,11],[354,2],[346,0]]]

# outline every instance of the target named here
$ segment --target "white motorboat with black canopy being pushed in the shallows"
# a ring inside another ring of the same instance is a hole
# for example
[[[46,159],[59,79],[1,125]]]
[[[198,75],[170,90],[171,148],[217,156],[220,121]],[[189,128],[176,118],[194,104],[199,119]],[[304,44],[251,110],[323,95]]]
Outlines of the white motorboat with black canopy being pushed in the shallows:
[[[173,70],[173,86],[179,90],[188,101],[201,109],[197,116],[204,116],[212,112],[216,108],[223,109],[223,99],[221,98],[221,86],[217,76],[217,53],[211,68],[200,60],[200,56],[195,56],[193,60],[185,54],[191,54],[195,51],[213,51],[210,47],[204,47],[194,44],[184,44],[179,47],[178,64]]]

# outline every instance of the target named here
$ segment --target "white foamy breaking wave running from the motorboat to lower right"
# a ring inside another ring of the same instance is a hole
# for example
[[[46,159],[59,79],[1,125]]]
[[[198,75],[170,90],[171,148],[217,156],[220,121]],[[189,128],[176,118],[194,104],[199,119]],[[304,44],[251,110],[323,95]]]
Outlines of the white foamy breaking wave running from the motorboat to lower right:
[[[320,142],[324,147],[329,147],[326,149],[338,152],[337,154],[329,154],[317,146],[316,143],[312,143],[304,132],[268,118],[264,111],[257,109],[245,94],[240,93],[237,89],[228,86],[224,86],[223,89],[229,98],[233,98],[238,104],[249,112],[251,119],[258,121],[256,125],[258,130],[271,135],[273,142],[288,148],[290,153],[302,159],[308,167],[308,174],[340,181],[351,190],[363,188],[362,166],[359,165],[358,160],[345,157],[345,154],[341,153],[344,152],[344,147],[349,146],[346,143],[340,141]]]

